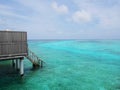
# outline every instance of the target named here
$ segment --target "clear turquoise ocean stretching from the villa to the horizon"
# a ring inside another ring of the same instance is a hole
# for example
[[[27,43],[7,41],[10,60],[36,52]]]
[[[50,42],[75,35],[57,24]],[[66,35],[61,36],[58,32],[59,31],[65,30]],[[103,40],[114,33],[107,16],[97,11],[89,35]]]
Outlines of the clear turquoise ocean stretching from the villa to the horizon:
[[[31,40],[44,62],[24,60],[20,77],[11,61],[0,62],[0,90],[120,90],[120,40]]]

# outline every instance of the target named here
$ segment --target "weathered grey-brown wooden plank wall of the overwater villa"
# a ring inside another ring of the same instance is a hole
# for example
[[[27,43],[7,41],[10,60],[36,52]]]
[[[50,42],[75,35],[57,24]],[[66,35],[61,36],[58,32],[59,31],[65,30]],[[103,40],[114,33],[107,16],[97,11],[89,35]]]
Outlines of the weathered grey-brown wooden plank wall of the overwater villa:
[[[27,55],[27,32],[0,31],[0,57]]]

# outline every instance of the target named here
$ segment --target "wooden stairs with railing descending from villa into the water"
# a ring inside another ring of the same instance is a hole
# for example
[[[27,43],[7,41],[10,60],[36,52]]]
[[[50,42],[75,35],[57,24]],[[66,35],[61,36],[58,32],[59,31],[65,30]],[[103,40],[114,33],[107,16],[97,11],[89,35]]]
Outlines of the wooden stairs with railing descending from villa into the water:
[[[37,55],[35,55],[35,53],[33,53],[31,50],[28,49],[28,55],[26,57],[33,63],[34,67],[36,66],[43,67],[44,62]]]

